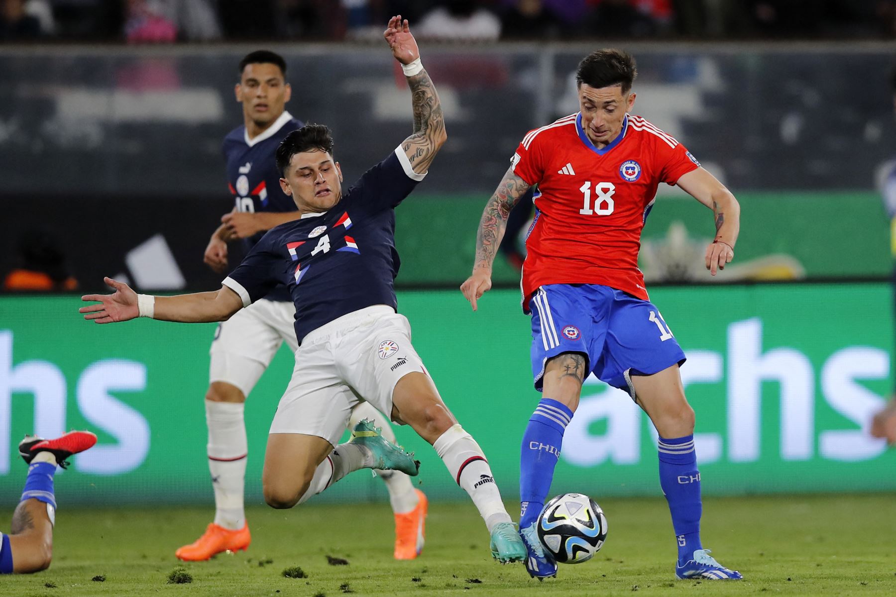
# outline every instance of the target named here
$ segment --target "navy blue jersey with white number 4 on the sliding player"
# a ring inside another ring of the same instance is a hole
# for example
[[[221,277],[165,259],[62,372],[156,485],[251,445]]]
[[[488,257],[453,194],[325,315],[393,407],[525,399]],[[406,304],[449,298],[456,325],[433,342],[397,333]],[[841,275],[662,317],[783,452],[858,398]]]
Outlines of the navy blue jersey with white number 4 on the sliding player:
[[[364,173],[340,202],[320,214],[271,228],[224,286],[247,307],[278,284],[296,304],[296,337],[375,304],[397,308],[394,208],[424,175],[401,146]]]

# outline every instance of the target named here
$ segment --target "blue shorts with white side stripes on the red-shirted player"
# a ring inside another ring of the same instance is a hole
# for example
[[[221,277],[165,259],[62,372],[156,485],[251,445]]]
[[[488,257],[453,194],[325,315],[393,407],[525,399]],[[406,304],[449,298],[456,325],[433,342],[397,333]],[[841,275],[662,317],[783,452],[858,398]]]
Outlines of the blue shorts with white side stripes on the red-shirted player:
[[[659,309],[621,290],[550,284],[538,288],[529,306],[532,376],[539,392],[545,363],[557,354],[584,354],[586,371],[633,398],[631,375],[651,375],[685,362]]]

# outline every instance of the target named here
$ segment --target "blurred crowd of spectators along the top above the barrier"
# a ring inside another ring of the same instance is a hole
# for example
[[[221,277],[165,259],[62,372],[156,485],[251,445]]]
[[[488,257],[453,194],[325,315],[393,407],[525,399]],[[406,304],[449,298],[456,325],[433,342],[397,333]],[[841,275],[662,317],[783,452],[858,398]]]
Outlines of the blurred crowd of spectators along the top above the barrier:
[[[896,0],[0,0],[0,42],[892,38]]]

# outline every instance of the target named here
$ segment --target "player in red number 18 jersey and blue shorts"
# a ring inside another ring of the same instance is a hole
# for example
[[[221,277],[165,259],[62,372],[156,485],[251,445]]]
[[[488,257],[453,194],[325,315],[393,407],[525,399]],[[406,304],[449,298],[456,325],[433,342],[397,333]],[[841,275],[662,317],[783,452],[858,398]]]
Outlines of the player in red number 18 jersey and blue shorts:
[[[507,214],[537,185],[522,268],[532,375],[544,394],[521,447],[520,528],[530,575],[556,575],[556,562],[538,543],[536,520],[582,383],[593,372],[628,392],[659,431],[659,482],[678,543],[676,576],[740,578],[700,542],[694,410],[678,373],[685,354],[650,303],[638,269],[641,231],[659,183],[677,184],[712,209],[716,237],[706,249],[706,267],[713,276],[734,258],[740,208],[681,143],[630,114],[635,75],[633,57],[617,50],[582,60],[576,72],[581,111],[523,138],[482,214],[473,273],[461,291],[475,311],[491,287]]]

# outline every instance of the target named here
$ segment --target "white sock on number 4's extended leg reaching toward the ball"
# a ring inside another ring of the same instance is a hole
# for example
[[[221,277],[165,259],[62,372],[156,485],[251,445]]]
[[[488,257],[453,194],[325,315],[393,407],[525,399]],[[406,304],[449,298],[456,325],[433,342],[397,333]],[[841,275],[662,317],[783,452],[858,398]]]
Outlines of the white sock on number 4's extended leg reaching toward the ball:
[[[479,515],[486,521],[488,532],[498,523],[509,523],[511,517],[504,509],[501,492],[495,477],[476,440],[463,431],[460,423],[445,431],[433,444],[454,481],[470,495]]]

